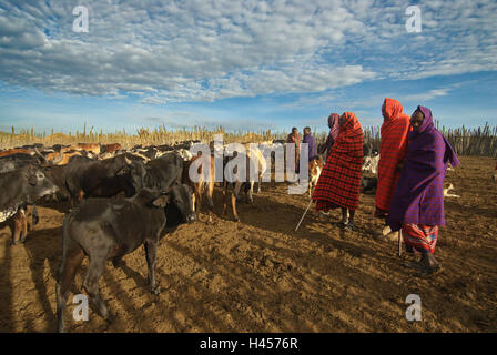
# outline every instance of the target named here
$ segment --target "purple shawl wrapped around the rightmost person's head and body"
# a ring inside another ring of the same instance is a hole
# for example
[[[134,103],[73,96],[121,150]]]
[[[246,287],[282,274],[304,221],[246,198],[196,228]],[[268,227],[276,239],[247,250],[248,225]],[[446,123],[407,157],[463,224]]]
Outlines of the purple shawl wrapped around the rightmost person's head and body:
[[[432,111],[424,115],[419,131],[408,135],[407,158],[388,212],[393,231],[403,224],[445,225],[444,179],[447,165],[459,165],[450,144],[433,124]]]

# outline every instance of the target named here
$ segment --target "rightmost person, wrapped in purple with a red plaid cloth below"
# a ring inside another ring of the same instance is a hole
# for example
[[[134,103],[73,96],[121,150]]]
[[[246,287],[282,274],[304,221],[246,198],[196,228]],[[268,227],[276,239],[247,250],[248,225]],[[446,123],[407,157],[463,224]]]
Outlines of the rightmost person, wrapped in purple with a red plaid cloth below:
[[[433,123],[432,111],[417,106],[410,116],[407,156],[394,193],[387,223],[402,229],[406,251],[420,253],[418,262],[406,263],[420,274],[440,268],[434,256],[438,227],[445,225],[444,179],[447,165],[459,165],[454,149]]]

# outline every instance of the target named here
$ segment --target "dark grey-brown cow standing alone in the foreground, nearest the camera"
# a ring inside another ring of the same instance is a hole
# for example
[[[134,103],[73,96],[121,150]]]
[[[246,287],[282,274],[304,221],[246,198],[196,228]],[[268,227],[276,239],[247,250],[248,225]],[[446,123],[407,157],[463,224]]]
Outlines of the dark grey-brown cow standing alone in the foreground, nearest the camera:
[[[122,256],[144,245],[150,287],[152,293],[159,294],[154,268],[162,232],[164,227],[175,229],[181,223],[195,220],[192,190],[187,185],[176,185],[163,193],[143,189],[125,200],[90,199],[65,215],[62,264],[55,290],[59,332],[65,331],[64,308],[69,287],[84,255],[90,264],[83,287],[99,314],[111,321],[99,292],[99,278],[105,271],[106,261],[112,260],[118,267]]]

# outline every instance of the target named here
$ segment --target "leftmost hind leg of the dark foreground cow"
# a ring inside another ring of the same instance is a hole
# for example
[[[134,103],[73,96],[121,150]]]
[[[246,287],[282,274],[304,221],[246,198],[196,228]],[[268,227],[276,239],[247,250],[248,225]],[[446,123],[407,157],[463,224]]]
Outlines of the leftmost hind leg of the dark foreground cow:
[[[55,285],[59,333],[65,332],[64,310],[68,302],[69,287],[71,287],[72,282],[74,281],[75,272],[78,271],[78,266],[83,261],[83,250],[77,246],[75,248],[69,251],[65,255],[63,255],[62,264],[59,268],[59,280]]]

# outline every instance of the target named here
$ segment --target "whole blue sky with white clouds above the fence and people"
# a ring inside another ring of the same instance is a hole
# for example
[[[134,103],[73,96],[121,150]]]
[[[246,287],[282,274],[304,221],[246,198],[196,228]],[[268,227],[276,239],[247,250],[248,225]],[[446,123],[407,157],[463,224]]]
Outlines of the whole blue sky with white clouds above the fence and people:
[[[367,126],[385,97],[497,125],[497,1],[0,0],[0,130]]]

